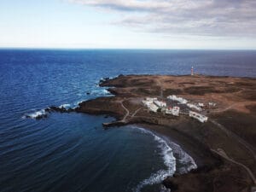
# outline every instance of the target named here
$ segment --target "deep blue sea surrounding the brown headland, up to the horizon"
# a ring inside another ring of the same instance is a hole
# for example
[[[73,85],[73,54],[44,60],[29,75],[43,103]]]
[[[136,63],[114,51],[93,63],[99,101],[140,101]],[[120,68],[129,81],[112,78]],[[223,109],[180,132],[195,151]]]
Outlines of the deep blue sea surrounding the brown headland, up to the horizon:
[[[96,84],[120,73],[188,74],[194,66],[255,78],[255,61],[253,50],[0,49],[0,191],[159,191],[163,177],[194,165],[175,143],[132,125],[103,130],[111,117],[24,115],[108,96]]]

